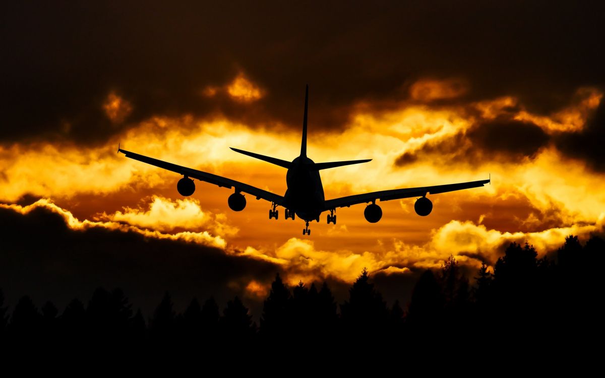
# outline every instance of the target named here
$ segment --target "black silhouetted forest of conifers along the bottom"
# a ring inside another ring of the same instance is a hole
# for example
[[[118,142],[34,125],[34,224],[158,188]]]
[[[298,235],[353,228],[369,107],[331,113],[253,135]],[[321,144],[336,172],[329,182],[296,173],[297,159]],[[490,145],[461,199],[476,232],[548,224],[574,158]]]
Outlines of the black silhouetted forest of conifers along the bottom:
[[[38,309],[27,295],[9,311],[0,290],[0,343],[155,350],[223,346],[234,353],[255,345],[355,348],[360,340],[402,348],[552,345],[595,334],[603,280],[587,262],[600,261],[603,252],[599,236],[584,245],[567,236],[556,253],[543,258],[529,244],[511,243],[493,272],[483,264],[471,280],[450,256],[440,269],[422,273],[407,305],[387,306],[365,269],[341,304],[325,282],[290,288],[277,274],[258,325],[237,296],[222,311],[210,297],[193,298],[176,313],[165,293],[145,319],[120,288],[97,288],[87,304],[73,299],[62,312],[51,302]]]

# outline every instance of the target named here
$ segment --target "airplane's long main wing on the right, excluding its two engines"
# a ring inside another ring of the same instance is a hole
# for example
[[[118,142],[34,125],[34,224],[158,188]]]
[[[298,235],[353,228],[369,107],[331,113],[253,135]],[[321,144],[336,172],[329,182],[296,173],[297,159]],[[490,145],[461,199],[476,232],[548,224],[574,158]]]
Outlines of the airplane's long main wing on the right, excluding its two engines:
[[[368,203],[376,200],[389,201],[399,200],[401,198],[422,197],[427,194],[439,194],[445,192],[460,191],[479,187],[489,183],[490,180],[469,181],[468,183],[408,187],[405,189],[393,189],[390,191],[379,191],[365,194],[349,195],[347,197],[335,198],[325,201],[324,210],[336,209],[336,207],[348,207],[358,203]]]

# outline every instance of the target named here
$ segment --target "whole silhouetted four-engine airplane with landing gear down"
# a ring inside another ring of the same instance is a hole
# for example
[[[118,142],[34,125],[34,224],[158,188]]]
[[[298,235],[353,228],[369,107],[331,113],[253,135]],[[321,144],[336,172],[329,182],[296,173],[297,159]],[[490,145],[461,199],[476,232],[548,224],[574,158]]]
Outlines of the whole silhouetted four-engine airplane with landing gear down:
[[[433,203],[427,198],[427,194],[439,194],[472,187],[480,187],[491,183],[491,177],[488,180],[469,181],[466,183],[445,184],[436,186],[408,187],[404,189],[392,189],[388,191],[370,192],[364,194],[348,195],[347,197],[325,200],[324,188],[321,184],[319,171],[341,167],[345,165],[367,163],[371,159],[348,160],[348,161],[330,161],[327,163],[315,163],[307,157],[307,110],[309,108],[309,85],[306,86],[304,98],[304,116],[302,119],[302,142],[301,152],[298,157],[292,161],[281,160],[274,157],[255,154],[254,152],[243,151],[237,148],[231,148],[235,152],[248,155],[253,158],[267,161],[268,163],[281,166],[287,169],[286,172],[286,193],[281,196],[271,192],[264,191],[258,187],[240,183],[231,178],[221,177],[208,172],[198,171],[197,169],[168,163],[167,161],[157,160],[145,155],[121,149],[118,145],[118,152],[122,152],[126,157],[142,161],[168,171],[183,175],[178,180],[177,191],[183,197],[194,194],[195,183],[193,179],[206,181],[219,187],[234,189],[234,193],[227,199],[227,204],[234,211],[241,211],[246,207],[246,197],[242,193],[250,194],[257,200],[263,199],[271,203],[269,209],[269,219],[279,218],[278,206],[284,207],[285,218],[294,220],[295,215],[305,221],[305,228],[302,235],[311,235],[309,223],[311,221],[319,222],[319,217],[323,212],[330,212],[327,215],[327,223],[336,224],[336,209],[339,207],[350,207],[355,204],[365,203],[364,217],[370,223],[376,223],[382,218],[382,209],[376,201],[399,200],[401,198],[417,198],[414,203],[414,210],[417,215],[426,217],[433,210]]]

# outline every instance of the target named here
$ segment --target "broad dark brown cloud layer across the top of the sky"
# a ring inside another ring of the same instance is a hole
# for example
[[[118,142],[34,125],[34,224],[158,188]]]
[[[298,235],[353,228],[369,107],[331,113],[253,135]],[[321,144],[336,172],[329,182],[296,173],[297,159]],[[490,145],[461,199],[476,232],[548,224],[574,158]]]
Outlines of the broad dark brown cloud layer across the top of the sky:
[[[419,77],[460,77],[465,100],[517,96],[529,111],[565,105],[603,84],[595,2],[450,1],[321,4],[9,2],[0,16],[2,132],[105,140],[152,114],[223,113],[338,127],[356,102],[407,99]],[[200,91],[239,72],[266,89],[237,104]],[[122,125],[102,110],[114,91],[132,105]]]

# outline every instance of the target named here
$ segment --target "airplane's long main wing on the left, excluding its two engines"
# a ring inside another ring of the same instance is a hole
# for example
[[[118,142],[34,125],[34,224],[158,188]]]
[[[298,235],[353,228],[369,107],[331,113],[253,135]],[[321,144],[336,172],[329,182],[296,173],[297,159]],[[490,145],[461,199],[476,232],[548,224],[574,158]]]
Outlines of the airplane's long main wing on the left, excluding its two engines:
[[[168,171],[177,172],[178,174],[187,176],[189,178],[196,178],[197,180],[206,181],[207,183],[215,184],[219,187],[226,187],[227,189],[235,187],[235,189],[240,192],[253,195],[257,198],[257,200],[262,198],[263,200],[270,201],[272,203],[275,203],[276,205],[281,205],[284,201],[284,197],[282,197],[281,195],[263,191],[263,189],[258,189],[258,187],[240,183],[240,181],[231,180],[231,178],[213,175],[208,172],[198,171],[197,169],[191,169],[180,165],[168,163],[167,161],[154,159],[145,155],[135,154],[134,152],[126,151],[120,148],[118,148],[118,151],[122,152],[126,155],[126,157],[129,157],[131,159],[143,161],[143,163],[167,169]]]

